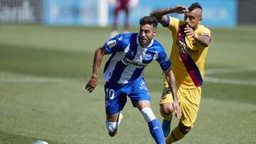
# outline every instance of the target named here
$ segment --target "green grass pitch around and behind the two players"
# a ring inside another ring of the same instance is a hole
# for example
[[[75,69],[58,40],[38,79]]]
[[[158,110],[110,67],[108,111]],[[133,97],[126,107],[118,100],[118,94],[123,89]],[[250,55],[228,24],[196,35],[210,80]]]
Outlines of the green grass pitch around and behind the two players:
[[[206,71],[229,71],[206,77],[238,84],[205,81],[196,124],[178,143],[256,143],[256,26],[211,32]],[[170,34],[159,28],[156,36],[166,52]],[[84,89],[94,50],[109,35],[110,28],[0,25],[0,143],[154,143],[130,101],[119,133],[108,136],[102,70],[95,91]],[[252,69],[246,71],[247,67]],[[154,62],[144,73],[152,109],[161,121],[161,68]],[[172,127],[176,124],[174,119]]]

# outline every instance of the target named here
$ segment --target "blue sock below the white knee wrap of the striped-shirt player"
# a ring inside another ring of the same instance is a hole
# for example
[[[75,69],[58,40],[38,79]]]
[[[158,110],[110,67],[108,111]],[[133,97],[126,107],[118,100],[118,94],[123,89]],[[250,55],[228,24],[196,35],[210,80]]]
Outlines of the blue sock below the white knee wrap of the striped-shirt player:
[[[149,131],[152,137],[154,138],[154,140],[156,141],[156,143],[165,144],[166,142],[164,139],[164,133],[160,126],[159,121],[157,121],[157,119],[154,119],[153,121],[150,121],[148,125],[149,125]]]

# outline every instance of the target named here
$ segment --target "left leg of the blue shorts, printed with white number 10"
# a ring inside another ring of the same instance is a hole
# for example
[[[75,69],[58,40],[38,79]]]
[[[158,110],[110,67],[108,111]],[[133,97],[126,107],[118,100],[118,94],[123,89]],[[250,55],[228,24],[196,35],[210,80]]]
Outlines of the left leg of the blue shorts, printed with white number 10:
[[[105,109],[107,114],[119,113],[127,102],[120,84],[105,84]]]

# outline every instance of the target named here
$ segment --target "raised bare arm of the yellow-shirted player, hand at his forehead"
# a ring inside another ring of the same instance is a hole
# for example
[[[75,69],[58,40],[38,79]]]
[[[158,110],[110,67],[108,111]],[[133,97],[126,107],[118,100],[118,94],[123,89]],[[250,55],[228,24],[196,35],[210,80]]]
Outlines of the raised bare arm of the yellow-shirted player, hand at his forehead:
[[[166,16],[166,14],[169,13],[186,13],[188,12],[188,9],[186,8],[186,6],[176,6],[174,8],[167,8],[167,9],[156,9],[155,11],[152,11],[150,13],[151,16],[154,16],[157,18],[157,20],[159,21],[159,23],[161,23],[161,25],[166,26],[169,23],[168,18]]]

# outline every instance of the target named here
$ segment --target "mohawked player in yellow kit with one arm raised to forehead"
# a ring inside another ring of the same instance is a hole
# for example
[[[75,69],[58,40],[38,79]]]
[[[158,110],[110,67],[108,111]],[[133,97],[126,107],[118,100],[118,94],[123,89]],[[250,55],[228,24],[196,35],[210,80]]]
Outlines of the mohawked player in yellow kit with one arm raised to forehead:
[[[166,16],[169,13],[184,14],[183,21]],[[180,140],[191,130],[196,121],[203,83],[204,64],[210,43],[210,30],[199,23],[202,21],[202,7],[198,3],[158,9],[151,12],[162,26],[172,33],[171,69],[176,77],[177,94],[181,106],[181,120],[171,131],[171,117],[174,111],[169,85],[164,79],[164,91],[160,101],[161,116],[164,117],[162,128],[166,143]],[[171,134],[169,134],[171,131]]]

